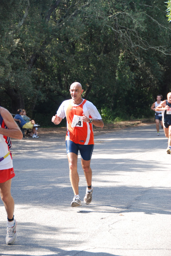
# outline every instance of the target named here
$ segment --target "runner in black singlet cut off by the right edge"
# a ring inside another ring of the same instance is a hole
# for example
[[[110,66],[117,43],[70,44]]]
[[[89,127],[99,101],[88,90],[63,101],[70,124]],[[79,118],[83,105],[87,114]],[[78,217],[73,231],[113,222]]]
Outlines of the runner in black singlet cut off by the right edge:
[[[163,114],[163,128],[165,132],[165,137],[168,138],[168,148],[166,152],[171,154],[171,93],[168,93],[167,99],[164,100],[159,106],[157,106],[156,111],[164,111]]]

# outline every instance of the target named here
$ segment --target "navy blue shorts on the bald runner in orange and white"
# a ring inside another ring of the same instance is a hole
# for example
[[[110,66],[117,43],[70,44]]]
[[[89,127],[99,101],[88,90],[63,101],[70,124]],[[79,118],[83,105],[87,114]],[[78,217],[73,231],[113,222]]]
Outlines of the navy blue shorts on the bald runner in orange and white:
[[[91,160],[91,155],[93,153],[94,145],[81,145],[76,144],[71,140],[66,140],[66,153],[75,153],[78,155],[78,151],[80,151],[81,158],[85,161]]]

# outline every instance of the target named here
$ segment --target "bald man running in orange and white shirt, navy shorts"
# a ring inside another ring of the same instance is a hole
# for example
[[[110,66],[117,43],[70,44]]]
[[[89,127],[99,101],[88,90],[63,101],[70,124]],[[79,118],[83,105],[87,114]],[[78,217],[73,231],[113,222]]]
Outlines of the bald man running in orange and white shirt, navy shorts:
[[[103,128],[103,120],[97,108],[89,101],[82,99],[83,89],[80,83],[75,82],[70,87],[71,98],[64,101],[52,117],[52,122],[58,125],[66,117],[66,150],[69,163],[69,177],[74,191],[74,198],[71,207],[81,205],[79,196],[79,175],[77,172],[78,151],[81,154],[81,165],[87,181],[87,188],[84,197],[85,204],[92,200],[93,188],[91,186],[92,171],[90,167],[91,155],[94,148],[94,134],[92,124]]]

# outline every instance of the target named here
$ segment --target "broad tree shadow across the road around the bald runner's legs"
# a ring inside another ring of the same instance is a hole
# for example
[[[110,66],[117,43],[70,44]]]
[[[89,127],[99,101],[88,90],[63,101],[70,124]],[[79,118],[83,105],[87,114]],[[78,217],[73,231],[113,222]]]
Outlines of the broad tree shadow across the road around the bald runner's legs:
[[[115,180],[115,176],[118,175],[123,175],[124,179],[125,175],[134,172],[143,174],[147,171],[153,172],[153,170],[160,172],[162,169],[164,175],[164,172],[168,170],[168,163],[161,163],[157,154],[157,158],[154,160],[139,160],[139,157],[131,157],[133,151],[134,156],[136,154],[138,156],[146,151],[149,151],[150,154],[151,150],[155,150],[157,147],[161,148],[165,138],[161,137],[158,140],[156,134],[152,137],[151,129],[154,129],[154,125],[145,128],[134,127],[112,134],[96,136],[97,142],[100,141],[100,143],[95,145],[91,160],[93,182],[95,183],[93,194],[96,210],[97,207],[108,205],[111,206],[109,212],[118,212],[120,209],[120,212],[141,211],[148,214],[170,214],[171,189],[165,189],[162,186],[151,188],[141,185],[120,186]],[[54,207],[56,202],[59,202],[60,205],[70,206],[73,193],[68,175],[64,139],[64,134],[62,137],[60,134],[57,134],[56,137],[54,134],[48,134],[48,137],[36,142],[35,140],[27,140],[26,144],[23,144],[20,140],[14,141],[13,160],[16,176],[12,181],[12,193],[16,204],[26,204],[32,207],[34,205]],[[145,140],[146,142],[142,146],[141,143]],[[121,143],[122,147],[120,147]],[[125,150],[125,154],[120,154],[121,150],[123,152]],[[97,154],[98,157],[96,158]],[[168,157],[171,156],[168,155]],[[78,159],[78,172],[80,175],[79,193],[83,198],[85,195],[85,177],[80,165],[80,158]],[[61,189],[65,201],[61,199]],[[151,194],[150,198],[146,196],[148,194]],[[51,195],[55,195],[55,197]],[[138,202],[136,209],[134,208],[134,201],[136,204]],[[165,203],[166,207],[164,206]],[[114,211],[114,208],[117,210]]]

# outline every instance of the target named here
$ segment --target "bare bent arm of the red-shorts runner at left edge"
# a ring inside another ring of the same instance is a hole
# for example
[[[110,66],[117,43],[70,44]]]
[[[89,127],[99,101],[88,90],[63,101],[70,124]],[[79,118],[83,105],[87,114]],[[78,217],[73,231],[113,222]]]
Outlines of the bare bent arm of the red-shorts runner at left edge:
[[[13,139],[21,140],[23,138],[23,134],[18,125],[14,122],[14,119],[9,111],[6,108],[0,107],[0,114],[8,127],[8,129],[0,127],[0,134]]]

